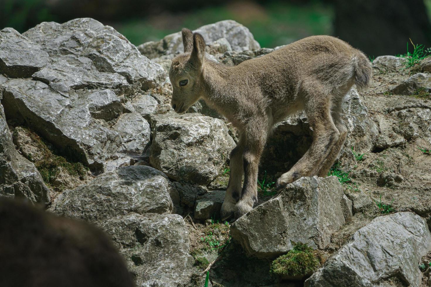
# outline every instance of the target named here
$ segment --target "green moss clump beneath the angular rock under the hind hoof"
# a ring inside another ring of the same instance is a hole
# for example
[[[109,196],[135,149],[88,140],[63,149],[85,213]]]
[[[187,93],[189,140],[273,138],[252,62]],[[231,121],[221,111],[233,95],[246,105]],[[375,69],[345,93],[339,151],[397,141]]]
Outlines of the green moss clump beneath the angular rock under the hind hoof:
[[[307,244],[293,242],[293,249],[272,262],[270,272],[281,276],[306,275],[319,267],[319,259]]]

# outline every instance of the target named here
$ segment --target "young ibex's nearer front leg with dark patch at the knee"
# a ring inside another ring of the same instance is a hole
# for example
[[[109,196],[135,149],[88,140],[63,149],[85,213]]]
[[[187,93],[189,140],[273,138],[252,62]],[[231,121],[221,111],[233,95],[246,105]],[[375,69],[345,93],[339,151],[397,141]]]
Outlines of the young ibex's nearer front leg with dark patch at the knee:
[[[253,209],[257,203],[257,172],[259,168],[260,156],[266,142],[267,123],[248,123],[244,130],[245,145],[243,151],[244,162],[244,185],[241,191],[240,200],[235,206],[235,218],[243,216]]]

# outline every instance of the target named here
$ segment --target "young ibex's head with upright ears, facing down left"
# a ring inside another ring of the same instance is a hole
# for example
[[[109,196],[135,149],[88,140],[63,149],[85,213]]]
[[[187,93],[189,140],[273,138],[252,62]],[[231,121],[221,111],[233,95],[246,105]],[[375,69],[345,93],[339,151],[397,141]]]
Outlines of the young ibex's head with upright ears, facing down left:
[[[183,113],[202,94],[203,66],[205,61],[205,41],[199,33],[182,29],[184,54],[172,60],[169,78],[172,83],[172,108]]]

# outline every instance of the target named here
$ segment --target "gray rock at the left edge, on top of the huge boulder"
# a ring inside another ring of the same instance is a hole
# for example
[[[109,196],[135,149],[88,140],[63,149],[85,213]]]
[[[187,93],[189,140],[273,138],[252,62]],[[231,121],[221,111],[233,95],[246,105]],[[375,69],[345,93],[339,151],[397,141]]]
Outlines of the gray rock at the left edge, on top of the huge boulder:
[[[13,28],[0,31],[0,71],[9,77],[31,77],[49,63],[47,52]]]

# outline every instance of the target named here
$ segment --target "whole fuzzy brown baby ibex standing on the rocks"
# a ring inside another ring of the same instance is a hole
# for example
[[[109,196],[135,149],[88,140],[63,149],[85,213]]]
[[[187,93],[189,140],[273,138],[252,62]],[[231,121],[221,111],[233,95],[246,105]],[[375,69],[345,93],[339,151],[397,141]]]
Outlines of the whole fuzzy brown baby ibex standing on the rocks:
[[[182,30],[184,53],[172,60],[172,108],[183,113],[198,99],[225,116],[240,138],[230,154],[231,175],[222,218],[242,216],[257,203],[257,172],[275,123],[304,110],[313,141],[277,180],[277,190],[302,176],[326,176],[347,136],[341,103],[353,84],[368,85],[367,57],[346,42],[312,36],[268,55],[228,67],[205,59],[202,35]],[[241,188],[242,176],[244,185]]]

